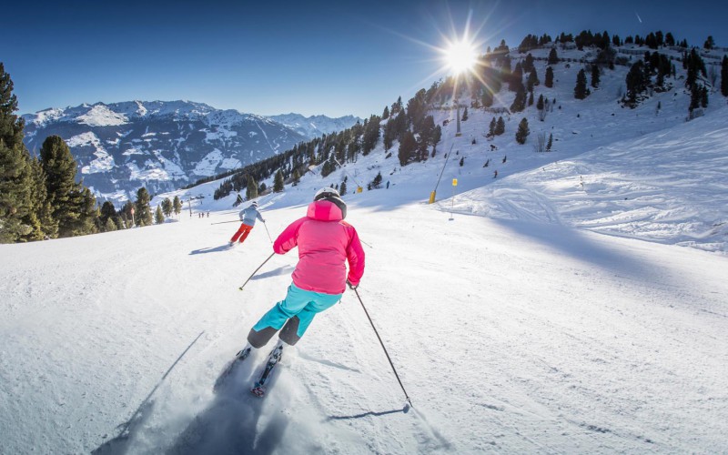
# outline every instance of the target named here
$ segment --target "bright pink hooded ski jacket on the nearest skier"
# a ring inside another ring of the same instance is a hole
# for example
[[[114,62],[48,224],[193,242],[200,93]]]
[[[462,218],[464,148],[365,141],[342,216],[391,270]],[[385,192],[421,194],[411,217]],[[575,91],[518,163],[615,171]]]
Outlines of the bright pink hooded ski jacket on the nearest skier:
[[[273,250],[282,255],[297,246],[293,284],[298,288],[343,294],[347,279],[356,286],[364,275],[364,249],[357,230],[342,219],[341,209],[328,200],[310,203],[306,217],[286,227],[273,243]]]

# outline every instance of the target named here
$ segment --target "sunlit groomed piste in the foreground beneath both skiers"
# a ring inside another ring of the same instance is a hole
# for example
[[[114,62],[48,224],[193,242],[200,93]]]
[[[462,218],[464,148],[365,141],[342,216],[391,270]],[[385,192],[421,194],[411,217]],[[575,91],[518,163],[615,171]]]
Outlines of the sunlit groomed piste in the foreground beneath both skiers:
[[[311,194],[261,198],[272,236],[305,212],[288,203]],[[449,201],[407,203],[402,185],[346,198],[366,242],[359,294],[409,413],[350,292],[284,352],[266,399],[247,391],[266,351],[214,396],[217,373],[285,294],[296,256],[272,258],[240,292],[270,253],[266,228],[224,250],[238,224],[212,223],[234,211],[185,212],[162,226],[0,246],[3,451],[723,450],[725,257],[450,217]]]

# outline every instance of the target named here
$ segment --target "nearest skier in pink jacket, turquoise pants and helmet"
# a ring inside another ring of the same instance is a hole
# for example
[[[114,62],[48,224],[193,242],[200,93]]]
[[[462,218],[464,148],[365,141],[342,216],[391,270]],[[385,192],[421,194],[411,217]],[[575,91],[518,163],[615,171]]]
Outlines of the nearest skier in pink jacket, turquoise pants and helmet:
[[[238,359],[248,357],[252,348],[265,346],[278,330],[282,342],[295,345],[317,313],[339,302],[346,285],[352,289],[359,286],[364,250],[357,230],[344,221],[346,216],[347,206],[339,191],[322,188],[308,205],[306,217],[291,223],[276,238],[273,250],[278,254],[298,247],[293,283],[286,298],[250,329],[248,346],[238,352]],[[279,342],[278,347],[282,346]]]

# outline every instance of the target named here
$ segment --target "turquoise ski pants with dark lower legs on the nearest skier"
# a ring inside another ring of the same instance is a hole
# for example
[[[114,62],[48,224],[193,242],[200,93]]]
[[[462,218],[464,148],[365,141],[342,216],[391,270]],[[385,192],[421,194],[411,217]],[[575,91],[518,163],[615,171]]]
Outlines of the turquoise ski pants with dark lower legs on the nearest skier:
[[[255,348],[262,348],[282,328],[280,339],[289,345],[295,345],[306,333],[316,313],[334,306],[341,300],[341,296],[342,294],[304,290],[291,283],[286,298],[270,308],[253,329],[250,329],[248,342]]]

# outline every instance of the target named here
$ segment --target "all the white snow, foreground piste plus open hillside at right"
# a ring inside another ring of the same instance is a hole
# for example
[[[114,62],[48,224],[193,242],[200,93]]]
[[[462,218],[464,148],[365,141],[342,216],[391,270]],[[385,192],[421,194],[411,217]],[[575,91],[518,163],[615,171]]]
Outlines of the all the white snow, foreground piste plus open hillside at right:
[[[473,110],[425,164],[379,146],[261,197],[267,225],[232,250],[219,182],[177,192],[196,197],[177,222],[0,245],[0,453],[724,452],[728,108],[715,96],[685,123],[680,92],[598,115],[606,98],[568,96],[575,71],[543,125],[526,114],[532,135],[560,131],[553,152],[515,145],[521,116],[486,141],[492,116]],[[351,194],[378,172],[388,189]],[[296,264],[275,256],[238,290],[271,253],[266,227],[344,176],[359,295],[413,408],[350,291],[284,350],[265,399],[248,393],[264,349],[213,394]]]

